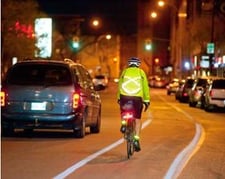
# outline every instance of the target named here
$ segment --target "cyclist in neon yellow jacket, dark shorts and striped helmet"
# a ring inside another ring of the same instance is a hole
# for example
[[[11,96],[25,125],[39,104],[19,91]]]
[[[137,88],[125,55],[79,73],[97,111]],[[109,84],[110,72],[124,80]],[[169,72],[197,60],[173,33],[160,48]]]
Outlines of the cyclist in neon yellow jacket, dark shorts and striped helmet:
[[[134,107],[134,118],[135,118],[135,136],[134,146],[135,151],[140,151],[139,135],[141,130],[141,114],[143,104],[145,109],[150,105],[150,93],[148,80],[145,72],[139,68],[141,61],[132,57],[128,59],[128,67],[122,71],[119,78],[117,100],[120,104],[121,114],[124,109],[123,106],[132,101]],[[121,121],[120,131],[124,133],[126,130],[126,121]]]

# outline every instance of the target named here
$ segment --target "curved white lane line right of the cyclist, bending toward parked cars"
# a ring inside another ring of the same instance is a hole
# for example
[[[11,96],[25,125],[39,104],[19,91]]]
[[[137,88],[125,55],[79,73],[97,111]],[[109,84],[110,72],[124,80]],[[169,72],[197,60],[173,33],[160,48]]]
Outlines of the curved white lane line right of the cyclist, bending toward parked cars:
[[[201,145],[205,140],[205,131],[201,124],[197,123],[195,119],[182,110],[179,107],[176,107],[170,103],[168,103],[164,98],[159,96],[159,98],[164,101],[166,104],[174,108],[180,113],[183,113],[190,121],[195,123],[195,136],[192,141],[176,156],[172,165],[170,165],[166,175],[163,177],[164,179],[174,179],[177,178],[184,167],[187,165],[188,161],[191,157],[200,149]]]

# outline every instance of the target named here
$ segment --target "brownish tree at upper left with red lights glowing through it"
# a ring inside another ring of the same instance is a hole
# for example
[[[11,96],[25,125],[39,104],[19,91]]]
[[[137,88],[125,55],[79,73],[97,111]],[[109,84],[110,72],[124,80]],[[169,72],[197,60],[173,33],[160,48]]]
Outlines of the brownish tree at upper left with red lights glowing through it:
[[[11,65],[12,57],[23,59],[34,56],[34,20],[43,14],[35,0],[2,1],[1,59],[2,72]]]

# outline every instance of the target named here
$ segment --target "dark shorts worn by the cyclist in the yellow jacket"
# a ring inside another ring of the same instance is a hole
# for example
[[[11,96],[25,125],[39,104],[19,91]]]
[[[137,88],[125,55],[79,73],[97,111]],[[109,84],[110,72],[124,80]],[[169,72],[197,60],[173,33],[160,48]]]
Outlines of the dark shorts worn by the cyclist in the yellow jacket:
[[[142,109],[143,102],[141,97],[120,95],[121,114],[127,110],[132,110],[132,112],[134,112],[134,117],[136,119],[141,119]]]

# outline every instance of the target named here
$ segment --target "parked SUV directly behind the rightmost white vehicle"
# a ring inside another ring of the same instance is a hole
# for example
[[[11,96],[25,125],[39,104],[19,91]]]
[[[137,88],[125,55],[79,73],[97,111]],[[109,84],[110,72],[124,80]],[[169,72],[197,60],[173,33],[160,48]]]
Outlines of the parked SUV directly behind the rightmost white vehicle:
[[[195,79],[191,90],[189,91],[189,106],[195,107],[197,104],[201,105],[202,94],[209,82],[208,77],[199,77]]]

